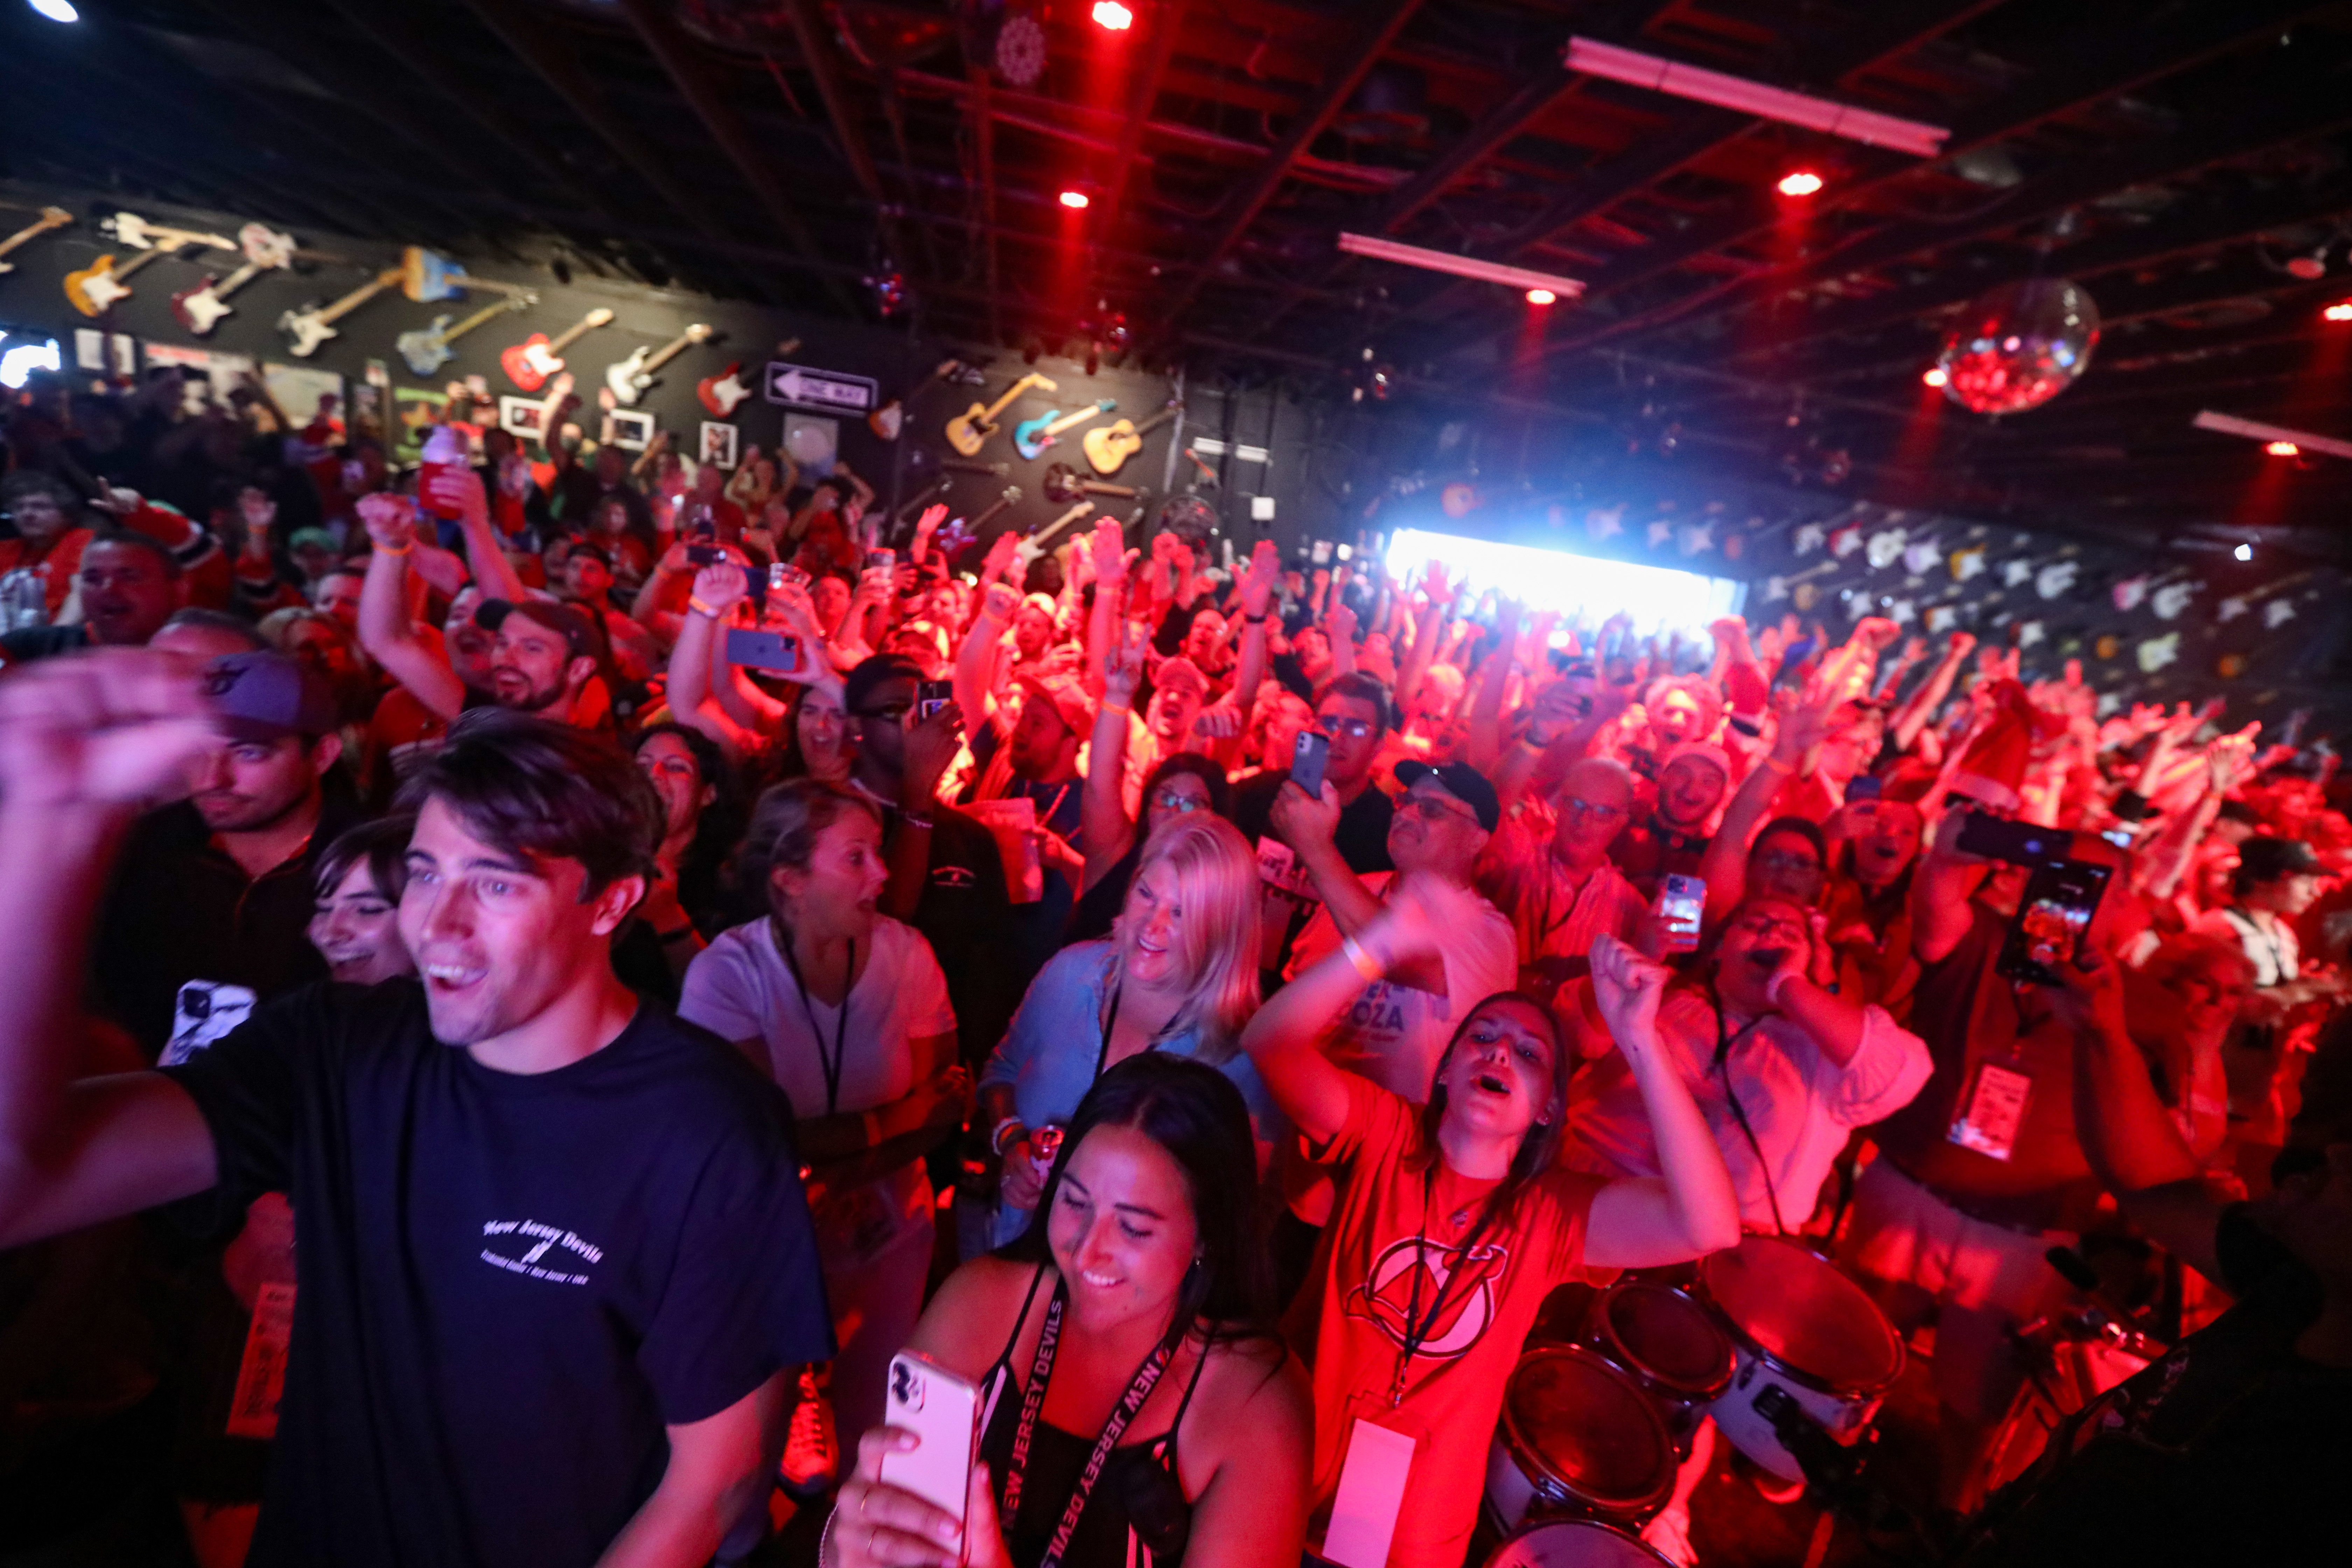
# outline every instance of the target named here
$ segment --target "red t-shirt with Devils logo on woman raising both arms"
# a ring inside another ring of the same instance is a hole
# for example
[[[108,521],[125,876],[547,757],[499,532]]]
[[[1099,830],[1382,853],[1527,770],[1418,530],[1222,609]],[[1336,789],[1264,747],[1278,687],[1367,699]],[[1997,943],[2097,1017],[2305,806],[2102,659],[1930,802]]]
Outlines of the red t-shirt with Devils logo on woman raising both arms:
[[[1338,1201],[1324,1227],[1315,1291],[1291,1312],[1291,1345],[1315,1373],[1315,1516],[1322,1542],[1357,1420],[1414,1436],[1414,1467],[1388,1544],[1395,1568],[1458,1563],[1470,1547],[1486,1486],[1486,1446],[1503,1415],[1503,1385],[1519,1361],[1545,1293],[1578,1274],[1585,1215],[1606,1182],[1545,1171],[1475,1239],[1463,1241],[1496,1182],[1414,1157],[1418,1107],[1369,1079],[1348,1079],[1348,1124],[1312,1152],[1341,1166]],[[1404,1368],[1404,1316],[1421,1279],[1421,1312],[1435,1321]],[[1439,1305],[1442,1293],[1442,1305]]]

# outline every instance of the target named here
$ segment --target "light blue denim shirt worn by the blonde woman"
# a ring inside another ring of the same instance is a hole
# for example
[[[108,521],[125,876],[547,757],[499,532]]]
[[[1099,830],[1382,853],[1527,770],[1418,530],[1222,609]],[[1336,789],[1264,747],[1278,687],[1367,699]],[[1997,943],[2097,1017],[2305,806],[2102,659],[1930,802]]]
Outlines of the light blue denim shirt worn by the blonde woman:
[[[981,1088],[1009,1084],[1021,1126],[1068,1124],[1077,1103],[1094,1088],[1094,1063],[1103,1056],[1103,1009],[1108,1006],[1112,947],[1110,940],[1073,943],[1056,952],[1014,1013],[1004,1041],[981,1067]],[[1171,1056],[1195,1056],[1200,1030],[1162,1034],[1152,1046]],[[1216,1070],[1232,1079],[1249,1105],[1249,1128],[1258,1145],[1261,1171],[1270,1150],[1289,1138],[1291,1124],[1275,1107],[1275,1095],[1240,1048]],[[990,1246],[1004,1246],[1028,1227],[1028,1208],[997,1208]]]

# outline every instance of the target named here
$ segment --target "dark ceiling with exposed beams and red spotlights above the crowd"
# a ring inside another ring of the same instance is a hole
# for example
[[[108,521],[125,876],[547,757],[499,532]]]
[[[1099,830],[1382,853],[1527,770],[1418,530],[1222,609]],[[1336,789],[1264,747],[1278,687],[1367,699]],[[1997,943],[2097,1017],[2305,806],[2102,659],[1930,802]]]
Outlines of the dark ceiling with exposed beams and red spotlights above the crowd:
[[[2352,435],[2352,5],[2296,0],[92,0],[0,5],[7,172],[282,226],[1136,353],[1529,421],[1543,442],[2159,541],[2338,550]],[[1569,35],[1947,125],[1922,162],[1562,68]],[[1828,176],[1809,202],[1773,179]],[[1084,214],[1056,205],[1082,188]],[[1517,292],[1341,230],[1588,282]],[[2319,256],[2303,277],[2288,261]],[[2067,275],[2091,371],[2004,421],[1919,374],[1978,292]],[[1811,458],[1809,458],[1811,461]],[[1818,473],[1809,473],[1818,484]]]

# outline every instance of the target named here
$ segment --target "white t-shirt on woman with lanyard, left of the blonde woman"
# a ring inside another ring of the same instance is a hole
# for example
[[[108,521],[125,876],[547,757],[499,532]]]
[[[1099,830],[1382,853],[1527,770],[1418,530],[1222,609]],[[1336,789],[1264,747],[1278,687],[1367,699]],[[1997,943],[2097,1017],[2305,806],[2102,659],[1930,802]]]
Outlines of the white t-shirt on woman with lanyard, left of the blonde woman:
[[[677,1016],[722,1039],[762,1041],[767,1070],[793,1098],[795,1117],[875,1110],[913,1093],[910,1041],[955,1034],[948,976],[931,943],[913,926],[875,917],[873,957],[849,987],[844,1023],[842,1009],[802,997],[774,933],[774,922],[755,919],[699,952],[687,966]],[[828,1103],[826,1056],[835,1039],[842,1041],[840,1093]],[[931,1182],[915,1159],[877,1182],[823,1192],[814,1218],[828,1262],[873,1258],[917,1225],[927,1227]]]

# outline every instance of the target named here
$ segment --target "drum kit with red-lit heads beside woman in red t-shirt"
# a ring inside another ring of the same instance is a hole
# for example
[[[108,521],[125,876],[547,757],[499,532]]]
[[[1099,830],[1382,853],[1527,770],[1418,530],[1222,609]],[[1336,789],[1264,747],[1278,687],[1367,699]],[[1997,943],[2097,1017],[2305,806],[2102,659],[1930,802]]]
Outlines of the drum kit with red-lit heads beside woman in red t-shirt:
[[[1705,1418],[1802,1481],[1766,1410],[1795,1401],[1851,1446],[1903,1371],[1903,1335],[1870,1295],[1785,1237],[1748,1237],[1689,1284],[1618,1279],[1581,1326],[1564,1316],[1545,1312],[1503,1392],[1486,1514],[1505,1540],[1486,1568],[1658,1568],[1639,1528]]]

